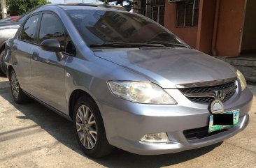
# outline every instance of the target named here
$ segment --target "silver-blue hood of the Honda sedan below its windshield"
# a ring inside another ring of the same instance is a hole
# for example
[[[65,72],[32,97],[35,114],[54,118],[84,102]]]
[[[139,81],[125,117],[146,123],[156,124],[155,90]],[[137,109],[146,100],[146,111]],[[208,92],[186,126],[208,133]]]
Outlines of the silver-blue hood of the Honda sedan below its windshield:
[[[228,63],[195,49],[106,49],[94,54],[138,72],[163,88],[236,77]]]

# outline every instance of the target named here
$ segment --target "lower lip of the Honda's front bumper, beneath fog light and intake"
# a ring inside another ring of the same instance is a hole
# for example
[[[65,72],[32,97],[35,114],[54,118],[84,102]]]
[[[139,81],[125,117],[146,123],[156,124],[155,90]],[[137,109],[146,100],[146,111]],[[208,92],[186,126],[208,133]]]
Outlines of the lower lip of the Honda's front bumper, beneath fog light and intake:
[[[249,115],[242,116],[239,119],[239,124],[230,128],[225,132],[220,132],[217,135],[211,137],[206,137],[202,139],[187,141],[182,132],[167,132],[169,138],[177,139],[176,143],[170,144],[146,144],[141,142],[133,142],[129,139],[122,137],[114,139],[113,143],[115,146],[129,151],[131,153],[136,153],[140,155],[160,155],[166,153],[177,153],[185,150],[190,150],[193,148],[201,148],[204,146],[209,146],[211,144],[216,144],[222,142],[229,137],[236,135],[238,132],[246,128],[249,123]]]

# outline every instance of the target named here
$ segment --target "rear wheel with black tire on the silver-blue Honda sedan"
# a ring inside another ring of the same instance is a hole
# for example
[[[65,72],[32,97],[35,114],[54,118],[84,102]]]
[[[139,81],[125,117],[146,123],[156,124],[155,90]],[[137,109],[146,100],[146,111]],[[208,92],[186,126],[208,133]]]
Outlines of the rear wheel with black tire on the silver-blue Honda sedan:
[[[14,70],[10,71],[10,90],[12,92],[13,100],[18,104],[29,102],[30,98],[20,88],[20,83],[17,80],[17,75]]]

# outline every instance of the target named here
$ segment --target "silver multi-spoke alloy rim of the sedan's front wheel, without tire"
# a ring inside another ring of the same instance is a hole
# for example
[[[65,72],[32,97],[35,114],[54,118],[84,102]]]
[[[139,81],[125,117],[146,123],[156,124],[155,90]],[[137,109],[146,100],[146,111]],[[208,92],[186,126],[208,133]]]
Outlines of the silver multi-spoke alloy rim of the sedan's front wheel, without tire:
[[[89,107],[81,105],[76,113],[76,131],[80,142],[92,149],[97,142],[97,125]]]

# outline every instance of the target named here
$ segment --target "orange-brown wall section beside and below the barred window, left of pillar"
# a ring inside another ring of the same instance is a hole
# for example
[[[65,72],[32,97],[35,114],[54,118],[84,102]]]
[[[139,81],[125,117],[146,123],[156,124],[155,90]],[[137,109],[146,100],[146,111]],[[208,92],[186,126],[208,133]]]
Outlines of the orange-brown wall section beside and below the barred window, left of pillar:
[[[176,3],[165,1],[164,26],[191,47],[197,47],[197,27],[176,28]]]

